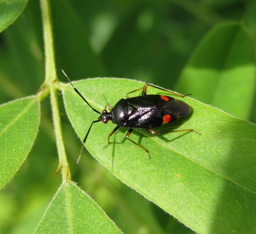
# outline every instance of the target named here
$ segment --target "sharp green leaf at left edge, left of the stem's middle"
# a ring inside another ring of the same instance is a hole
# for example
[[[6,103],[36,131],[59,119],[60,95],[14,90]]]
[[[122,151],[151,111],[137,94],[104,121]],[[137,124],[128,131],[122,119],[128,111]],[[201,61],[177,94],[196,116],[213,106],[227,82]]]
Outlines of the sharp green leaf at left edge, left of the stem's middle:
[[[0,106],[0,188],[14,176],[30,152],[39,119],[37,97],[22,98]]]

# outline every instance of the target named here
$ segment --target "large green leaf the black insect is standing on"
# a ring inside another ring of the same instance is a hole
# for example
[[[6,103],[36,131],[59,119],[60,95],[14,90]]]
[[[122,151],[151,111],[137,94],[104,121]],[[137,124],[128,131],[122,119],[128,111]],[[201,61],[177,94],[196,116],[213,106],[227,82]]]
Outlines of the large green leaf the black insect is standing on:
[[[142,86],[114,78],[75,83],[99,111]],[[148,88],[148,94],[156,93],[166,94]],[[69,119],[83,139],[99,115],[71,87],[65,87],[63,95]],[[192,116],[163,128],[193,128],[202,135],[153,136],[144,129],[135,130],[130,137],[150,151],[148,159],[146,152],[125,140],[127,128],[120,128],[103,149],[116,125],[99,122],[91,128],[86,148],[121,181],[198,233],[255,233],[256,125],[192,98],[178,99],[192,107]]]

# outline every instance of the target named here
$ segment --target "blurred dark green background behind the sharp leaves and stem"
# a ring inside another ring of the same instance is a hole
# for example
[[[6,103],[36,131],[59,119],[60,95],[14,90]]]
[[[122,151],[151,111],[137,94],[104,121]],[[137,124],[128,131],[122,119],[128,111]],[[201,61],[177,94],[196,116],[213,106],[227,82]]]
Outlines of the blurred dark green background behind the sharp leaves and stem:
[[[256,45],[254,0],[54,0],[51,6],[57,74],[63,82],[61,69],[71,80],[120,77],[175,90],[193,50],[215,25],[242,22]],[[35,94],[44,75],[39,1],[29,1],[18,20],[0,34],[0,103]],[[61,95],[59,99],[72,180],[117,226],[126,234],[193,233],[122,184],[86,151],[77,165],[81,143]],[[256,122],[255,103],[254,99],[252,122]],[[58,157],[49,98],[41,107],[32,151],[0,192],[0,233],[33,233],[61,183],[60,174],[53,180]]]

